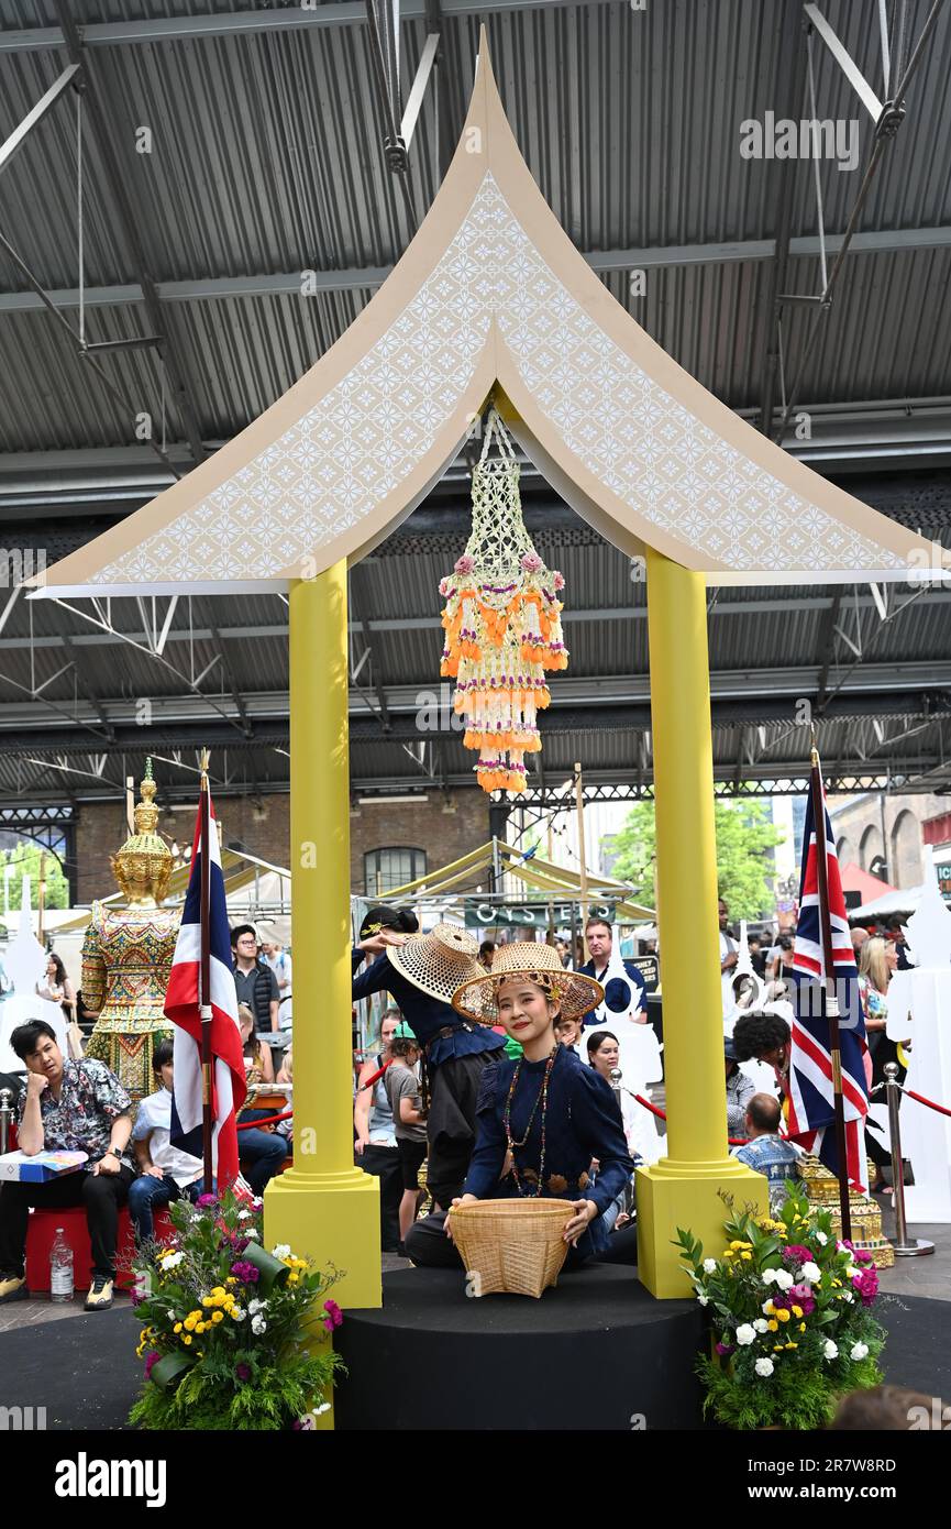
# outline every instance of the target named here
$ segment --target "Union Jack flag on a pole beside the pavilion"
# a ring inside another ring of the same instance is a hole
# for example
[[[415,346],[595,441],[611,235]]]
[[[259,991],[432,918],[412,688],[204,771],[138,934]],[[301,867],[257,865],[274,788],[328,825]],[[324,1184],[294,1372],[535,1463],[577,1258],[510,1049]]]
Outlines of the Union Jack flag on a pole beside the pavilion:
[[[821,784],[820,784],[821,790]],[[826,875],[829,885],[829,924],[832,927],[832,976],[839,1008],[839,1055],[842,1066],[842,1105],[846,1116],[846,1161],[849,1180],[867,1188],[864,1122],[868,1113],[865,1081],[865,1020],[858,988],[855,953],[849,936],[846,899],[835,853],[835,838],[826,795]],[[789,1138],[806,1151],[818,1153],[821,1162],[838,1177],[835,1139],[835,1095],[832,1087],[832,1055],[829,1018],[826,1015],[826,960],[820,928],[818,856],[812,794],[806,803],[803,832],[803,875],[800,881],[800,920],[792,956],[794,1020],[789,1064]]]

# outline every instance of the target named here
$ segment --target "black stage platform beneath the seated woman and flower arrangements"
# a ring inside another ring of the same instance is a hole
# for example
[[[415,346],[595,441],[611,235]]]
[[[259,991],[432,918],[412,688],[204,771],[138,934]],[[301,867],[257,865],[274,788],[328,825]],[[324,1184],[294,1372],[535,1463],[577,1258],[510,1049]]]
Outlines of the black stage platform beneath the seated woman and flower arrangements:
[[[700,1427],[691,1301],[653,1301],[630,1269],[564,1274],[540,1301],[466,1300],[457,1274],[384,1275],[384,1310],[347,1312],[335,1335],[350,1367],[336,1427],[625,1431]],[[885,1378],[951,1401],[951,1306],[882,1303]],[[141,1323],[112,1312],[0,1333],[0,1405],[46,1407],[52,1430],[124,1428],[141,1376]]]

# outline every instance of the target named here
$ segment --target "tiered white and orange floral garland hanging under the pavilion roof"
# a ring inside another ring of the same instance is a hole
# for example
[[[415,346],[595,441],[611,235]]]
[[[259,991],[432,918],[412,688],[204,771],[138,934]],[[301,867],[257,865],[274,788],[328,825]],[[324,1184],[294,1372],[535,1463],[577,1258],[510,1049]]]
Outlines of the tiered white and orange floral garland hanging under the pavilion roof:
[[[561,573],[535,552],[521,518],[518,463],[495,408],[472,472],[472,534],[439,586],[446,631],[442,674],[456,679],[463,743],[479,749],[483,790],[524,790],[524,755],[541,749],[537,714],[550,700],[546,670],[567,668]]]

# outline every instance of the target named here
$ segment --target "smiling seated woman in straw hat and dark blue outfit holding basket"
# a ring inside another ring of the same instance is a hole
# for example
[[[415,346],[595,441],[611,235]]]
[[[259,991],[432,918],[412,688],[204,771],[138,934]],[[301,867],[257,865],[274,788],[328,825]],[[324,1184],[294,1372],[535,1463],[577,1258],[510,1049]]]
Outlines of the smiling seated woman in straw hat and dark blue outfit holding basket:
[[[633,1235],[609,1232],[605,1211],[633,1173],[621,1110],[610,1086],[555,1040],[558,1015],[602,1001],[592,977],[564,971],[547,945],[497,950],[491,974],[460,988],[453,1006],[482,1024],[501,1023],[523,1047],[518,1060],[485,1067],[476,1107],[476,1148],[462,1194],[472,1200],[544,1196],[566,1202],[566,1268],[587,1258],[636,1261]],[[593,1177],[596,1165],[596,1179]],[[451,1212],[410,1229],[407,1254],[428,1268],[462,1268]]]

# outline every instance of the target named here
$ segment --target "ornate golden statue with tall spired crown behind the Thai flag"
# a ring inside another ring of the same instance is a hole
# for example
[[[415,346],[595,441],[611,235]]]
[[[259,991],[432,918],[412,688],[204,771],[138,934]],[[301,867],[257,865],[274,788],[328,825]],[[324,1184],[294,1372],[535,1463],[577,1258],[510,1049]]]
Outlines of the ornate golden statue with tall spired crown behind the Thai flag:
[[[171,850],[156,833],[159,809],[151,760],[139,786],[136,830],[110,859],[124,908],[92,905],[83,942],[83,1001],[98,1015],[86,1046],[104,1061],[133,1099],[154,1092],[151,1049],[171,1035],[165,989],[171,971],[180,908],[164,908]]]

